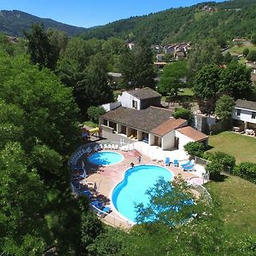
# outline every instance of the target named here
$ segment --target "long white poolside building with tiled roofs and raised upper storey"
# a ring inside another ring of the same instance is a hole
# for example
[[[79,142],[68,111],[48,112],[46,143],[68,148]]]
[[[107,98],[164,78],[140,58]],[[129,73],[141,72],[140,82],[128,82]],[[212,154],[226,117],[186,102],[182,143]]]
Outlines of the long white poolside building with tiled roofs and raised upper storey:
[[[152,89],[125,91],[119,101],[121,107],[100,117],[102,131],[112,131],[163,150],[183,149],[189,142],[208,143],[208,137],[188,126],[187,120],[174,119],[169,109],[151,106],[151,102],[160,103],[160,95]]]

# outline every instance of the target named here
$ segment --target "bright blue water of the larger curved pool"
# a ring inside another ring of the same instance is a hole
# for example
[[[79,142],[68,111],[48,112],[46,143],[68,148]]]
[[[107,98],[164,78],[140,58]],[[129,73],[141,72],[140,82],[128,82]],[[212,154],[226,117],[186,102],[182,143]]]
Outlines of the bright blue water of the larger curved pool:
[[[136,222],[137,212],[135,205],[143,203],[148,204],[148,195],[145,192],[154,187],[156,181],[164,177],[166,181],[172,180],[173,173],[160,166],[135,166],[125,172],[125,178],[119,183],[112,193],[113,206],[125,218]]]

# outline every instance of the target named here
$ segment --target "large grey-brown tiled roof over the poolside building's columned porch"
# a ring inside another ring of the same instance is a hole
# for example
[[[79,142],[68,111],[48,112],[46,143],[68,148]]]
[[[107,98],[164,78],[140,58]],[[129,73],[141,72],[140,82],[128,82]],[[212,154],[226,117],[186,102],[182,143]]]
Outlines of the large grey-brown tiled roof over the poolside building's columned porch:
[[[156,107],[141,110],[119,107],[102,114],[103,119],[146,132],[154,130],[171,117],[172,111]]]

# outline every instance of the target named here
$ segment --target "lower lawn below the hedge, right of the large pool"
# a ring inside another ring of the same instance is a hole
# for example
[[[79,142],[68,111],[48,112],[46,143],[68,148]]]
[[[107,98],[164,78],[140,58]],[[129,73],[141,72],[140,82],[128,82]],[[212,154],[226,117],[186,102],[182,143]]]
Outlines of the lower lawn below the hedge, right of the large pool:
[[[256,235],[256,184],[229,176],[224,182],[210,182],[206,187],[212,195],[218,195],[224,223],[232,234]]]

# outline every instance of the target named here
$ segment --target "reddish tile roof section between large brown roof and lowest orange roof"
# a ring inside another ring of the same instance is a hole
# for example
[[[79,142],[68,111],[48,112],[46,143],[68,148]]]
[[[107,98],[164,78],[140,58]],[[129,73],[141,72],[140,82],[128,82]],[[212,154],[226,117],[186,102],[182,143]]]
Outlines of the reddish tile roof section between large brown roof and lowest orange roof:
[[[168,132],[185,125],[187,120],[185,119],[168,119],[164,123],[160,124],[159,126],[155,127],[150,132],[154,133],[158,136],[165,136]]]

